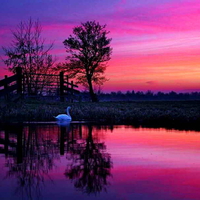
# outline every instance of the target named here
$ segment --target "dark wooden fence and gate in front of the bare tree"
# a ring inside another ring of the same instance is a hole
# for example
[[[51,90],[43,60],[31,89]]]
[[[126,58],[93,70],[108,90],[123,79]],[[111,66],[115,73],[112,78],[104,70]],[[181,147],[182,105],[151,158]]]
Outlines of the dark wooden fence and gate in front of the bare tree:
[[[78,86],[73,81],[69,82],[68,76],[65,76],[63,72],[59,75],[23,74],[20,67],[16,68],[15,75],[5,76],[3,80],[0,80],[0,88],[2,88],[0,97],[4,96],[6,100],[12,100],[11,96],[15,96],[14,99],[19,99],[23,95],[31,97],[34,90],[34,96],[48,96],[51,93],[53,96],[59,96],[62,102],[66,99],[73,102],[74,96],[80,93],[75,89]]]

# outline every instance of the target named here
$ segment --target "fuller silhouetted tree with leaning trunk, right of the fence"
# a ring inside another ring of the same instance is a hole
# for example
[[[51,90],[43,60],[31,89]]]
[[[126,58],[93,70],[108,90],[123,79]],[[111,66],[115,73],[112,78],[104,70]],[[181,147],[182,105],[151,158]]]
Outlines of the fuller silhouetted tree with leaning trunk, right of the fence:
[[[82,23],[63,42],[68,53],[64,69],[89,89],[93,102],[98,101],[94,84],[102,85],[107,80],[104,72],[112,53],[111,38],[107,38],[109,32],[105,27],[95,21]]]

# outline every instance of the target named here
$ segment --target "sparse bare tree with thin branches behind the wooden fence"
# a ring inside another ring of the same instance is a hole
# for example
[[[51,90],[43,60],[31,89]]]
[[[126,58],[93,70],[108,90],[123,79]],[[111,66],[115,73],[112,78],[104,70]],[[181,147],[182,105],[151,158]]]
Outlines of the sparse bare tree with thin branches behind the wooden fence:
[[[49,74],[55,63],[55,58],[49,53],[53,43],[45,45],[45,39],[41,36],[42,27],[40,22],[31,18],[21,22],[12,31],[13,40],[10,47],[2,47],[5,56],[4,60],[9,71],[15,73],[16,67],[21,67],[25,85],[29,92],[37,94],[42,91],[46,80],[36,74]]]

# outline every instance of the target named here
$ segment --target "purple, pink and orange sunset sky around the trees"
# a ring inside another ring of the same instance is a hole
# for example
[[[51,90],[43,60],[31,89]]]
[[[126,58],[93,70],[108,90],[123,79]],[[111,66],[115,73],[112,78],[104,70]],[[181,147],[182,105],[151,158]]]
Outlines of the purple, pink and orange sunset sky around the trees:
[[[104,92],[200,91],[199,0],[1,0],[0,46],[20,21],[39,19],[53,55],[81,22],[107,24],[113,48]],[[0,49],[3,58],[3,51]],[[0,61],[0,78],[8,74]]]

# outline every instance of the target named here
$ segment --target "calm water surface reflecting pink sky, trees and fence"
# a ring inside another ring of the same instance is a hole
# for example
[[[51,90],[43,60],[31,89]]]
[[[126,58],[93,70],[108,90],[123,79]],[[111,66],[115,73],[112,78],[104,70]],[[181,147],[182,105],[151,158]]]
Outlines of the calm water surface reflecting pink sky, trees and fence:
[[[0,129],[1,200],[199,200],[200,133],[131,126]]]

